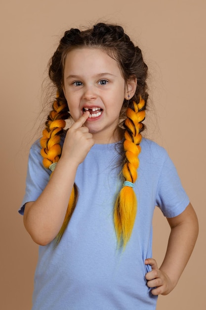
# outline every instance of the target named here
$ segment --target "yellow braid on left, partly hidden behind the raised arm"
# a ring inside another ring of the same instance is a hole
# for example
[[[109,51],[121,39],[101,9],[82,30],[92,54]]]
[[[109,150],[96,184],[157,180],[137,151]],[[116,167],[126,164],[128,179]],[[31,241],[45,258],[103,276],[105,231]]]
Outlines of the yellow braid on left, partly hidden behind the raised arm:
[[[64,119],[62,119],[62,117],[66,119],[68,118],[68,116],[65,117],[65,108],[67,107],[67,104],[58,101],[58,94],[57,94],[57,100],[54,101],[52,107],[53,110],[49,113],[49,116],[47,118],[46,128],[42,132],[42,138],[40,140],[40,144],[42,148],[41,156],[43,157],[42,160],[43,165],[45,168],[50,169],[53,173],[55,163],[59,161],[62,152],[62,148],[60,146],[61,141],[60,132],[62,132],[63,128],[66,126],[66,122]],[[52,173],[50,177],[52,176]],[[59,243],[64,233],[64,230],[67,227],[67,224],[72,216],[73,210],[77,202],[77,195],[78,195],[77,187],[76,185],[74,185],[68,203],[68,208],[66,211],[64,222],[58,235],[55,238],[56,244]]]

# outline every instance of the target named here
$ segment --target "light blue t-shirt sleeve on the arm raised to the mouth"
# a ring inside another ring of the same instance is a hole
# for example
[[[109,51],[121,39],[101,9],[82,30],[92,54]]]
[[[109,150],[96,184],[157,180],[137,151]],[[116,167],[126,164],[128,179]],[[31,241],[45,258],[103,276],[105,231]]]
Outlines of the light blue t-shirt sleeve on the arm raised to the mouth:
[[[51,171],[44,168],[42,164],[42,156],[40,151],[41,146],[38,140],[30,149],[26,177],[26,190],[21,208],[19,209],[19,213],[22,215],[24,214],[25,204],[36,201],[41,195],[41,192],[48,183],[49,176],[51,174]]]

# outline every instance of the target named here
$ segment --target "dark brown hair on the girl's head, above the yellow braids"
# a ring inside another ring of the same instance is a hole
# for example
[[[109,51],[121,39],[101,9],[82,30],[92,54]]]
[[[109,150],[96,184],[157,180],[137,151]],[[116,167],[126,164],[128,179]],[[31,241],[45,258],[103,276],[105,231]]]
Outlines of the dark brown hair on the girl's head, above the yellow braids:
[[[119,65],[125,83],[131,78],[137,80],[134,95],[124,99],[121,116],[124,115],[128,103],[133,100],[138,102],[140,96],[146,103],[148,97],[146,93],[147,65],[143,61],[141,50],[134,46],[121,26],[104,23],[98,23],[93,28],[85,31],[72,28],[66,31],[64,37],[60,40],[60,44],[50,60],[49,77],[57,87],[59,99],[62,102],[66,103],[63,87],[67,55],[69,57],[68,53],[74,49],[86,47],[102,49],[110,57],[114,58]]]

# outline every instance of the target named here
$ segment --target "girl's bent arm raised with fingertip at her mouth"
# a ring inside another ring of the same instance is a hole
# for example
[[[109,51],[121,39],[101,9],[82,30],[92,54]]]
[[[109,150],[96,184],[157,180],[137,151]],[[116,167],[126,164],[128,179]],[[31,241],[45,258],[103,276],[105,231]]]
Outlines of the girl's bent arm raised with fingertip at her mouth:
[[[61,158],[51,179],[35,202],[25,206],[24,225],[32,239],[46,245],[58,234],[65,217],[79,164],[94,144],[92,134],[82,127],[89,112],[84,113],[68,130]]]

